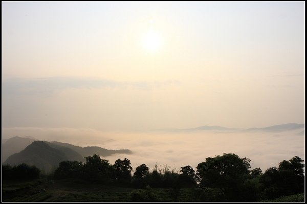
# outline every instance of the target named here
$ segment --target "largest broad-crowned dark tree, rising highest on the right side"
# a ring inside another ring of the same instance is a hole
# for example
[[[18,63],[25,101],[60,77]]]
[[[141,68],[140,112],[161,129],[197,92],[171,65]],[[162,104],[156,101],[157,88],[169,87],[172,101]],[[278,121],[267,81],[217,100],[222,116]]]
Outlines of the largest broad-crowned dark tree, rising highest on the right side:
[[[240,190],[249,176],[250,160],[237,155],[223,154],[207,158],[198,164],[196,174],[200,177],[200,185],[209,188],[220,188],[226,201],[240,201]]]

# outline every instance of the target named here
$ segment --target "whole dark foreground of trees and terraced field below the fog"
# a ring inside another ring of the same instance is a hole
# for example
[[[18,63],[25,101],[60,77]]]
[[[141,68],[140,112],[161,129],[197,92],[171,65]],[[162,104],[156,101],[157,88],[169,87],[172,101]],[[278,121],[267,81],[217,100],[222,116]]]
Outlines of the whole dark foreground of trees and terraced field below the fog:
[[[63,161],[43,175],[27,164],[3,166],[3,201],[9,202],[229,202],[304,201],[304,161],[294,157],[278,167],[250,168],[250,160],[235,154],[207,158],[196,167],[167,166],[135,171],[128,159],[109,164],[99,155],[85,163]]]

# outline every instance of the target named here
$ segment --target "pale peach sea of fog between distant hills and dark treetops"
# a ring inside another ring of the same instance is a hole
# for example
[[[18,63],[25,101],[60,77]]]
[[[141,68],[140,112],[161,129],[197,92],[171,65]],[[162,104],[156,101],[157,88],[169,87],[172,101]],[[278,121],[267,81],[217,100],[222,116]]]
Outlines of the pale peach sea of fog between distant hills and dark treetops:
[[[261,167],[262,171],[278,166],[282,160],[294,156],[304,158],[304,135],[292,132],[233,132],[217,133],[209,131],[162,133],[162,132],[100,132],[92,129],[43,129],[14,128],[3,129],[3,135],[32,136],[39,140],[67,142],[79,146],[101,146],[106,149],[130,149],[132,155],[105,157],[114,164],[117,159],[127,158],[135,169],[144,163],[153,169],[157,163],[179,171],[180,167],[196,166],[208,157],[234,153],[251,160],[251,169]]]

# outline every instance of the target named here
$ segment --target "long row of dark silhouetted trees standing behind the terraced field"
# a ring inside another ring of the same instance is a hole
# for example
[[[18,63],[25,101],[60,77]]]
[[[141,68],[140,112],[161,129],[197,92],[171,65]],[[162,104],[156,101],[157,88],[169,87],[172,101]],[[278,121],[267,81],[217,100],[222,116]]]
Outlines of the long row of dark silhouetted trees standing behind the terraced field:
[[[169,167],[152,171],[145,164],[135,171],[128,159],[109,164],[99,155],[85,157],[85,162],[63,161],[54,171],[53,178],[80,179],[91,183],[145,188],[131,194],[131,201],[157,201],[151,188],[171,188],[174,201],[181,188],[192,188],[196,201],[260,201],[304,192],[304,161],[293,157],[279,163],[278,167],[250,170],[250,160],[235,154],[207,158],[198,164],[196,172],[190,166],[179,172]],[[150,188],[150,187],[151,188]]]

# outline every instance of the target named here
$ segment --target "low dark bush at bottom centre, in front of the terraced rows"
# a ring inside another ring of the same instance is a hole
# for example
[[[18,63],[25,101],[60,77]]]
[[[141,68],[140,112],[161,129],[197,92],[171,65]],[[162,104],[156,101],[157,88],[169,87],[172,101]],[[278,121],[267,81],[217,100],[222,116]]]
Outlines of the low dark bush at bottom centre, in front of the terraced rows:
[[[160,198],[152,192],[149,186],[146,186],[145,190],[138,189],[131,192],[131,202],[159,202]]]

